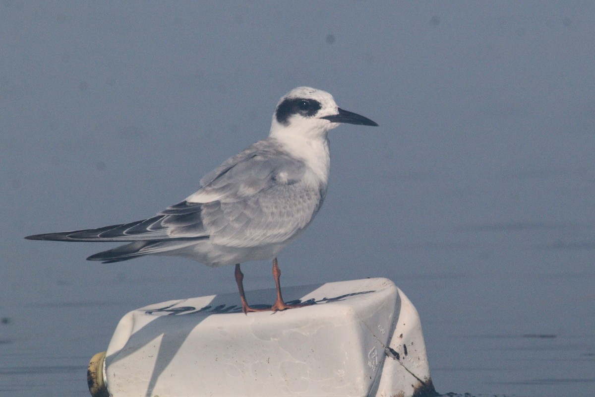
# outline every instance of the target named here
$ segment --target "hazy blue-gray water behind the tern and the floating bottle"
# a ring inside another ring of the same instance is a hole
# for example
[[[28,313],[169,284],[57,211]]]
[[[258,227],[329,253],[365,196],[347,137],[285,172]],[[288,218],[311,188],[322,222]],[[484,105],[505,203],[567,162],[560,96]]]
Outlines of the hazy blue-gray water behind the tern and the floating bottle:
[[[331,132],[284,285],[394,280],[440,392],[595,394],[593,2],[39,3],[0,5],[0,395],[86,395],[127,311],[236,290],[23,236],[180,201],[300,85],[380,127]]]

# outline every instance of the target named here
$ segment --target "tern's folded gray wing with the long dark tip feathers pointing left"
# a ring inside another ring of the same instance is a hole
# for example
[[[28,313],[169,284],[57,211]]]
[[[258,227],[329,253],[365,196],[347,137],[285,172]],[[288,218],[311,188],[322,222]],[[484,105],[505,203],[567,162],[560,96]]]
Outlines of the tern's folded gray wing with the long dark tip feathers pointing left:
[[[209,239],[248,247],[282,243],[320,208],[326,186],[304,179],[305,164],[264,140],[206,174],[201,189],[154,217],[97,229],[28,236],[33,240],[133,242],[90,260],[119,261]],[[186,241],[184,241],[186,240]]]

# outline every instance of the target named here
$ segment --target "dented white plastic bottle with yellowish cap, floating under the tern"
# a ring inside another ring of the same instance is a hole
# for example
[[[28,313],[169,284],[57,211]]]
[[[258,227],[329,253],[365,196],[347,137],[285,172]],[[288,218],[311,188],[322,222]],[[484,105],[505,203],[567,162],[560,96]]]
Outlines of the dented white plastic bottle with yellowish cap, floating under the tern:
[[[271,302],[275,292],[247,295]],[[92,395],[437,394],[417,310],[390,280],[286,287],[283,295],[313,304],[245,315],[229,293],[129,312],[89,364]]]

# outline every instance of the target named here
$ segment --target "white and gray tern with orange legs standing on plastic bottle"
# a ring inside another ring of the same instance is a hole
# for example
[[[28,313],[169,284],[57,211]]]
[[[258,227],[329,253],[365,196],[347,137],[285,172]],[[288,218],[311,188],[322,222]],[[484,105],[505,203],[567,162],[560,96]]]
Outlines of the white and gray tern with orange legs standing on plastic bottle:
[[[320,209],[328,186],[328,132],[339,123],[378,126],[337,107],[328,92],[297,87],[279,101],[267,139],[229,158],[201,179],[184,201],[136,222],[25,237],[30,240],[129,242],[87,258],[104,263],[143,255],[176,255],[209,266],[236,265],[242,310],[246,302],[240,263],[273,259],[277,301],[285,310],[277,254],[303,232]]]

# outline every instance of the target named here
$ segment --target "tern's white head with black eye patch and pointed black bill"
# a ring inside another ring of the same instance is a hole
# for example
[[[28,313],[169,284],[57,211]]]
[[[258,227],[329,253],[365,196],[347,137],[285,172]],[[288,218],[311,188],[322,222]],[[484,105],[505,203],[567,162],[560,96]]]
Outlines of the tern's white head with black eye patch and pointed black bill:
[[[277,104],[271,123],[271,136],[325,138],[328,131],[338,127],[339,123],[378,126],[369,118],[339,108],[328,92],[297,87]]]

